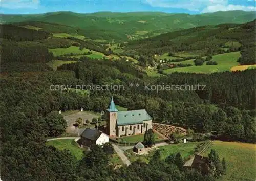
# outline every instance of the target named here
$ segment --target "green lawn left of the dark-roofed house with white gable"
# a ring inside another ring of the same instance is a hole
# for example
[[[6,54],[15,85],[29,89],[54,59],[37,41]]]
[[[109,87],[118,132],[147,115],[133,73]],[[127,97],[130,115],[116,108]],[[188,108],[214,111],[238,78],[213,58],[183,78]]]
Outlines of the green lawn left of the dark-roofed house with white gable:
[[[78,147],[78,144],[75,142],[74,139],[65,139],[65,140],[52,140],[46,142],[46,145],[52,145],[55,148],[60,150],[67,149],[74,155],[78,160],[82,159],[83,157],[83,149]]]

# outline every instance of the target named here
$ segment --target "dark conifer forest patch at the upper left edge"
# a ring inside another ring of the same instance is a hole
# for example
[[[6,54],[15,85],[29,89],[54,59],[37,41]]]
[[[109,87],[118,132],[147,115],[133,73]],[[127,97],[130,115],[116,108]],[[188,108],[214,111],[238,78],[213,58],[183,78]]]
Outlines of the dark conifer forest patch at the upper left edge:
[[[50,33],[48,32],[37,31],[14,25],[0,25],[0,29],[0,37],[13,41],[36,41],[50,37]]]

